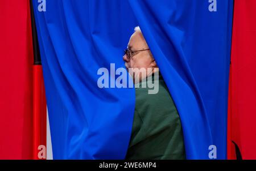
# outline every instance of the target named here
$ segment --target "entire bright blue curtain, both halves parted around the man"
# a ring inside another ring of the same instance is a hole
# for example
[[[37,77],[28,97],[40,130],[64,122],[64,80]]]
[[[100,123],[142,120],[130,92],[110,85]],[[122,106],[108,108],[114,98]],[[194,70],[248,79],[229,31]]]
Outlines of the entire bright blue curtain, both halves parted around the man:
[[[33,3],[53,159],[124,159],[134,88],[98,88],[97,70],[124,67],[137,25],[180,114],[187,159],[209,159],[210,145],[226,158],[233,0],[216,12],[208,0],[55,0],[45,12]]]

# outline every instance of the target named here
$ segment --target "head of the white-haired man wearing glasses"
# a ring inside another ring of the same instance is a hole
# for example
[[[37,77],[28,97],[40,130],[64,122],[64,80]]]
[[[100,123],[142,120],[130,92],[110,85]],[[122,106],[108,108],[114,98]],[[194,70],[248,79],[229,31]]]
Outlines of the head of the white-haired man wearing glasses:
[[[158,70],[158,66],[148,49],[147,42],[142,35],[141,29],[135,27],[134,31],[135,32],[131,35],[127,46],[127,53],[123,55],[123,61],[125,61],[126,69],[129,70],[133,79],[142,80]],[[147,72],[144,74],[140,73],[139,71],[142,71],[142,69],[145,69]]]

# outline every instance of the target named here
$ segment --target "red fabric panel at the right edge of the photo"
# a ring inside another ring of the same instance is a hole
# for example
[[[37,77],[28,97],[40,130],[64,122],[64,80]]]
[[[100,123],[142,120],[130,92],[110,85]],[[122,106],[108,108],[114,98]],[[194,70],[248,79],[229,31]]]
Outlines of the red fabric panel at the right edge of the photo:
[[[228,159],[256,159],[256,1],[235,0],[230,64]]]

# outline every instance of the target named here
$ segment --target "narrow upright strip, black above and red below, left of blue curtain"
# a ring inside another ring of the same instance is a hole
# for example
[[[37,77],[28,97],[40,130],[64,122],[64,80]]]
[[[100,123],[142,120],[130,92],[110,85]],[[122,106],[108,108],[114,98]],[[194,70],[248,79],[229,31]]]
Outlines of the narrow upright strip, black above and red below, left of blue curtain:
[[[34,65],[33,65],[33,159],[46,160],[47,152],[47,106],[46,92],[43,82],[42,62],[35,24],[35,15],[30,1],[31,36],[33,43]]]

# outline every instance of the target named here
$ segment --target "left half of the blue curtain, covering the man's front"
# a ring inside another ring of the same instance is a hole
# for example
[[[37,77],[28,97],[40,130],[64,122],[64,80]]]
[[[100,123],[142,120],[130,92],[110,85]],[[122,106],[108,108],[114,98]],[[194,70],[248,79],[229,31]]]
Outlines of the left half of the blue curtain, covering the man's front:
[[[135,92],[98,88],[97,71],[124,67],[123,49],[137,25],[129,3],[54,0],[39,12],[33,2],[53,159],[123,159]]]

